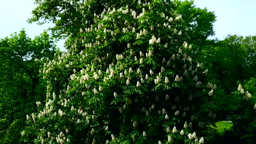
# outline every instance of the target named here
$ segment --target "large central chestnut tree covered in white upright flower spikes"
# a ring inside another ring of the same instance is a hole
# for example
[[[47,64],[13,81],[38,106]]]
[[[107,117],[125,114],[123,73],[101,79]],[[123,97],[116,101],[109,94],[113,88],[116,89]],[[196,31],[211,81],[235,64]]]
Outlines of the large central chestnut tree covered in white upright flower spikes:
[[[62,29],[71,28],[68,52],[42,69],[46,100],[28,113],[24,141],[204,143],[217,86],[193,57],[193,28],[175,1],[63,3],[76,11]]]

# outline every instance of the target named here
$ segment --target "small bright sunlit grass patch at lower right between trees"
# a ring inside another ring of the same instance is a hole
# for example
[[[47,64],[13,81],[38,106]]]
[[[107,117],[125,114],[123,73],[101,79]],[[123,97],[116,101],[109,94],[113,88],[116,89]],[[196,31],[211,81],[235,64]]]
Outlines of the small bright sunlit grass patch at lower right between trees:
[[[231,130],[233,126],[233,123],[230,121],[220,121],[220,122],[216,122],[215,124],[216,124],[216,127],[213,127],[213,125],[211,125],[211,128],[216,129],[220,136],[224,135],[225,130]]]

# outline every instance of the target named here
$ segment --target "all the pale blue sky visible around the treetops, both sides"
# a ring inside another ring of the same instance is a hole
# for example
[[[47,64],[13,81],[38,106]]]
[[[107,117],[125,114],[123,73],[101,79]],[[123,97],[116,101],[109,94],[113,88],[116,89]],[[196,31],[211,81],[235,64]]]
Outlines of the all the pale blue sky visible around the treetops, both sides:
[[[22,28],[25,28],[28,37],[34,38],[44,29],[53,26],[27,23],[31,11],[36,7],[33,3],[34,0],[0,0],[0,38],[9,37]],[[256,0],[194,0],[194,4],[214,11],[217,16],[214,23],[216,35],[211,39],[222,40],[228,34],[256,35]],[[65,50],[63,40],[57,46]]]

